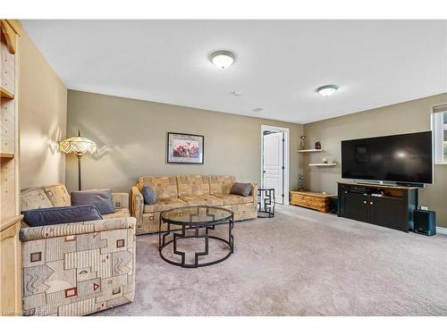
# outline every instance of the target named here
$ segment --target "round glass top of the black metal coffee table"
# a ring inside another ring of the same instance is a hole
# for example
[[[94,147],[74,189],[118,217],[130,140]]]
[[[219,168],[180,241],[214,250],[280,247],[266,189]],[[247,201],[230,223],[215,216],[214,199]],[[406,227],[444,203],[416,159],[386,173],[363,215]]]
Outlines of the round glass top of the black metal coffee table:
[[[232,217],[232,212],[225,208],[198,205],[174,208],[161,215],[164,222],[197,225],[229,220]]]

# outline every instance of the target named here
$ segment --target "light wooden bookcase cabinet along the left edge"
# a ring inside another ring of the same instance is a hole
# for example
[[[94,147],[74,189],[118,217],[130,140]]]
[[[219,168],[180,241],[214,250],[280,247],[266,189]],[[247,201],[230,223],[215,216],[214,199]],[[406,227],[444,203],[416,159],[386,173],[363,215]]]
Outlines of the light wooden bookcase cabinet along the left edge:
[[[17,46],[19,21],[1,20],[0,43],[0,314],[21,314]]]

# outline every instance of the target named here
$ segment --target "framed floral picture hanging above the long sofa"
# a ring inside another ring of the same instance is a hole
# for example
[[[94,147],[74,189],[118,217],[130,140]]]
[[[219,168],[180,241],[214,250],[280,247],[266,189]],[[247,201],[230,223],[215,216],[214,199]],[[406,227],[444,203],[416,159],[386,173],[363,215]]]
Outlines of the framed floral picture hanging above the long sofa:
[[[167,163],[203,164],[204,137],[202,135],[167,134]]]

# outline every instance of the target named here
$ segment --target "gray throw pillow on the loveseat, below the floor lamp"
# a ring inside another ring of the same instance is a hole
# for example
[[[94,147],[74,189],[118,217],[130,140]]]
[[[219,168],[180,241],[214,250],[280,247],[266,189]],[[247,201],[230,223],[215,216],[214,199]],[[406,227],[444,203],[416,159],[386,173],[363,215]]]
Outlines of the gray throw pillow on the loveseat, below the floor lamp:
[[[74,191],[72,192],[72,205],[95,205],[101,215],[114,213],[110,188]]]

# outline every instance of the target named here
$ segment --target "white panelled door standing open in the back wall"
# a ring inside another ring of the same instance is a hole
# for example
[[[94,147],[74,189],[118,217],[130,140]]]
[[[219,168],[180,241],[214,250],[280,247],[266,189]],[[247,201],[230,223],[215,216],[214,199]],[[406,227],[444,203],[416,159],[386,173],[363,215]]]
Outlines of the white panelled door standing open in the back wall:
[[[283,204],[283,132],[264,135],[263,186],[274,188],[276,204]]]

